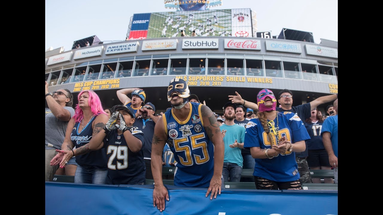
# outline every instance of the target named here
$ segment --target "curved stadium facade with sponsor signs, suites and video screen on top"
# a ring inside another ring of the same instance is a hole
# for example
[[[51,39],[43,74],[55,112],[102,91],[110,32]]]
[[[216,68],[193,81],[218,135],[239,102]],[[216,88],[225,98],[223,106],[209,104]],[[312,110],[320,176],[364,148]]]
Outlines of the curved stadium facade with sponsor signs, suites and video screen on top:
[[[193,31],[198,35],[191,36]],[[294,106],[337,93],[337,47],[257,38],[255,31],[250,9],[135,14],[127,41],[46,54],[45,80],[51,92],[67,88],[77,96],[94,90],[105,107],[120,104],[117,90],[142,88],[156,113],[170,107],[172,78],[187,81],[190,93],[219,113],[235,91],[255,102],[262,88],[289,89]]]

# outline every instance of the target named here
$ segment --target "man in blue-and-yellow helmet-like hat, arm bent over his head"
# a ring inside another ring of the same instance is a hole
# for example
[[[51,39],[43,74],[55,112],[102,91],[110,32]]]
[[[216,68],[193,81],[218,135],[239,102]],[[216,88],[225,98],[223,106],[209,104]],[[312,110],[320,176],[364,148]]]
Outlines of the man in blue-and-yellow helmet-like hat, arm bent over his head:
[[[131,93],[132,99],[128,97],[129,93]],[[141,104],[145,102],[146,94],[140,88],[125,88],[117,90],[117,97],[124,106],[133,108],[134,114],[136,114],[137,109],[141,108]]]

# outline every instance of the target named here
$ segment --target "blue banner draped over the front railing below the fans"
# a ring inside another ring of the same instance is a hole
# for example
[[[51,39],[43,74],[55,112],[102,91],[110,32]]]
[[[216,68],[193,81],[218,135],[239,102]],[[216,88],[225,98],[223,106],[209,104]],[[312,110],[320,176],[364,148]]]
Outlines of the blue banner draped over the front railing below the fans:
[[[170,200],[160,212],[153,207],[153,185],[45,182],[45,214],[338,214],[338,191],[224,189],[216,199],[210,200],[210,195],[205,197],[207,189],[166,187]]]

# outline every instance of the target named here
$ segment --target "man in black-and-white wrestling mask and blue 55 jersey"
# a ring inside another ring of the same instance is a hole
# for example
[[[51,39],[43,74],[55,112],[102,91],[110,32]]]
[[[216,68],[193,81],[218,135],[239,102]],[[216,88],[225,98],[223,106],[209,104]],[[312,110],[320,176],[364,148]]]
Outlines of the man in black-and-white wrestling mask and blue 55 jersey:
[[[169,194],[162,182],[162,151],[169,144],[175,158],[174,185],[208,187],[205,197],[221,194],[224,145],[221,130],[208,106],[190,103],[187,83],[173,78],[167,98],[172,108],[155,124],[152,142],[153,206],[165,210]]]

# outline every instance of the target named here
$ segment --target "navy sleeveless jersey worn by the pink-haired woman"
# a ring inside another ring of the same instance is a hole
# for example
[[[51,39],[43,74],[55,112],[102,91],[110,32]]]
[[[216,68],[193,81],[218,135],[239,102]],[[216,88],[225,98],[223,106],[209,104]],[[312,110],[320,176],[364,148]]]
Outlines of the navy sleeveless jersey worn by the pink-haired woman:
[[[92,123],[96,119],[96,116],[94,116],[90,122],[82,129],[80,134],[77,132],[80,127],[80,122],[76,122],[74,124],[74,128],[72,130],[72,133],[70,134],[70,140],[72,140],[72,143],[76,148],[80,148],[83,145],[90,142],[93,135],[93,129],[92,129]],[[89,165],[89,166],[96,166],[101,169],[106,169],[106,155],[105,150],[103,148],[96,150],[96,151],[90,151],[89,153],[86,153],[84,155],[76,155],[76,163],[79,165]]]

